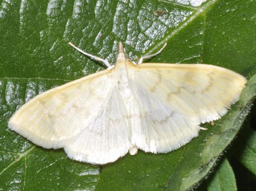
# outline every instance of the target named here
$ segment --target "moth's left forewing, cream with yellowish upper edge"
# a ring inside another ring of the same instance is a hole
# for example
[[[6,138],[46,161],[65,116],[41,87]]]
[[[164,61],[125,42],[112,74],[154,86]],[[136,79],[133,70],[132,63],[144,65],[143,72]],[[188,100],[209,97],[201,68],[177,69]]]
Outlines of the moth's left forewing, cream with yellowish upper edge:
[[[113,71],[104,70],[37,95],[8,127],[45,148],[63,147],[98,117],[112,94]]]

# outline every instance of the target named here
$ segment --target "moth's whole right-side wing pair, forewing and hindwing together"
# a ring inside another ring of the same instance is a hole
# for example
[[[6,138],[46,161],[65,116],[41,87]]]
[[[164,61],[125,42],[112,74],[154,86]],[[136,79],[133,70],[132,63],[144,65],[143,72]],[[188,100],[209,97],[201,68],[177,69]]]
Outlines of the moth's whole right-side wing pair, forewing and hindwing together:
[[[140,110],[133,142],[150,152],[169,152],[189,142],[200,123],[228,111],[246,83],[231,70],[203,64],[143,63],[130,70],[130,79]]]

